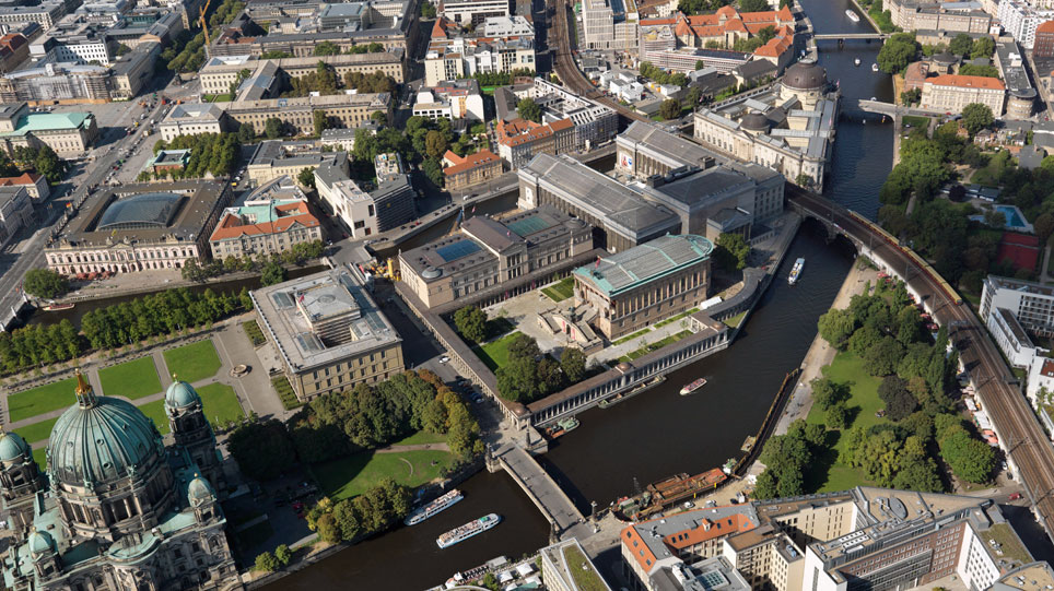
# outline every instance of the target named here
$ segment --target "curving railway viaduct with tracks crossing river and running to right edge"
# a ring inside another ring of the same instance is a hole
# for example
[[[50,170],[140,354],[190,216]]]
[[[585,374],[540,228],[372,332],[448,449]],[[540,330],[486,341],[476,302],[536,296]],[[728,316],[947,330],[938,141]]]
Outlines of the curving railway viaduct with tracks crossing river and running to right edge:
[[[801,215],[821,222],[832,235],[848,238],[862,255],[903,280],[909,293],[923,303],[936,322],[948,327],[948,338],[992,418],[1007,463],[1024,485],[1037,521],[1054,540],[1054,447],[984,322],[926,261],[877,225],[790,184],[787,202]]]

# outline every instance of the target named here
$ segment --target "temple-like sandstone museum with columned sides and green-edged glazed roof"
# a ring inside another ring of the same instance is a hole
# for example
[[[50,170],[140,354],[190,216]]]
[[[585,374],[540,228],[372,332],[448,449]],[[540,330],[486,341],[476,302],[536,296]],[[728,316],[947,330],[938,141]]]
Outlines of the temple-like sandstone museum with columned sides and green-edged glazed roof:
[[[707,298],[714,244],[692,234],[667,235],[574,271],[575,307],[609,341]]]

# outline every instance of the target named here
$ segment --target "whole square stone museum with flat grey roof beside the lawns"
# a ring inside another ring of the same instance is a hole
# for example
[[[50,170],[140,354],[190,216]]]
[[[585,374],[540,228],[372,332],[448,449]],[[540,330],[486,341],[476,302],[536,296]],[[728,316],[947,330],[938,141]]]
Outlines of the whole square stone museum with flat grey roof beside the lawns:
[[[249,292],[257,322],[281,357],[296,398],[350,391],[406,369],[402,339],[363,287],[338,267]]]

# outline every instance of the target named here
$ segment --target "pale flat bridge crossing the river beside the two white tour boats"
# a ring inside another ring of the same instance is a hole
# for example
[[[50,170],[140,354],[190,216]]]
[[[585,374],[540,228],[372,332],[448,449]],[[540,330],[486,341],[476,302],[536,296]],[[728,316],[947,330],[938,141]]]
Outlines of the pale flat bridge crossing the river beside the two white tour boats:
[[[541,468],[538,460],[535,460],[524,448],[506,444],[494,452],[490,464],[493,466],[492,472],[500,466],[512,476],[524,493],[527,493],[530,500],[549,521],[551,539],[575,536],[584,540],[593,533],[585,516],[578,511],[552,476]]]

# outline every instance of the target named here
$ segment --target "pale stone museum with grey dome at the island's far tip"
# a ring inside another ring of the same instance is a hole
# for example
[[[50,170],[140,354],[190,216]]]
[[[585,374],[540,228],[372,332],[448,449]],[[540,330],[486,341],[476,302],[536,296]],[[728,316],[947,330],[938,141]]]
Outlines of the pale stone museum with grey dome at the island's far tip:
[[[769,91],[695,111],[694,139],[707,149],[766,166],[787,180],[823,190],[834,153],[838,94],[827,71],[797,62]]]

